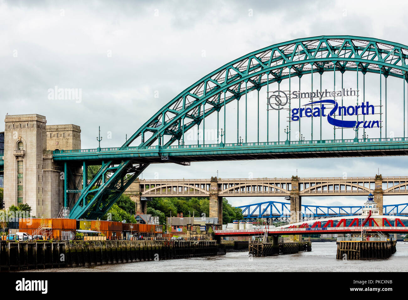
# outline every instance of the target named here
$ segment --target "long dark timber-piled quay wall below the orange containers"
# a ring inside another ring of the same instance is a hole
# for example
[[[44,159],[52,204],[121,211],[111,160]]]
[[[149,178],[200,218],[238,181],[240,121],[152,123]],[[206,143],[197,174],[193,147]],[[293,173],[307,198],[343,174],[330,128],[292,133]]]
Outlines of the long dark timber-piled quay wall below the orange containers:
[[[217,255],[216,241],[0,242],[0,271],[86,267]]]

